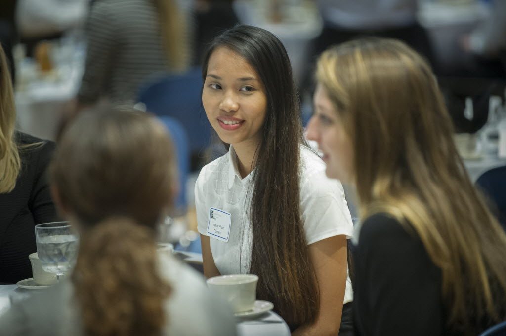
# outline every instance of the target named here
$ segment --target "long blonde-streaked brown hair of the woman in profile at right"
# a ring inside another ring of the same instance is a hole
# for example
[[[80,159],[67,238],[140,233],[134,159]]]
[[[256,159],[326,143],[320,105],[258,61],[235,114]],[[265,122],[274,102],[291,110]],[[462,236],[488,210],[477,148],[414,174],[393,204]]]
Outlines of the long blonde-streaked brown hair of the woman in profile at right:
[[[361,216],[414,229],[441,269],[451,326],[504,319],[506,234],[457,154],[427,62],[400,41],[351,41],[321,55],[316,79],[352,142]]]

